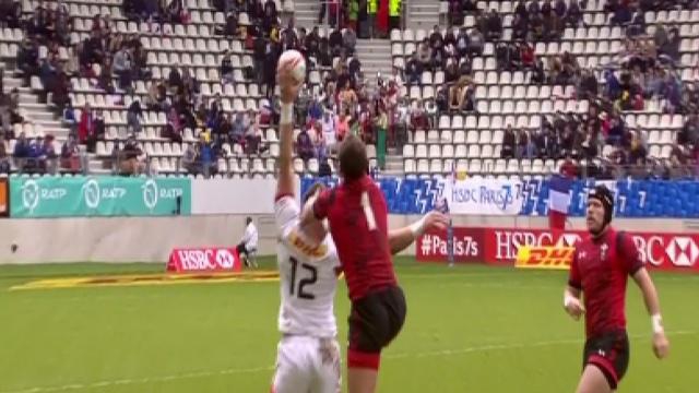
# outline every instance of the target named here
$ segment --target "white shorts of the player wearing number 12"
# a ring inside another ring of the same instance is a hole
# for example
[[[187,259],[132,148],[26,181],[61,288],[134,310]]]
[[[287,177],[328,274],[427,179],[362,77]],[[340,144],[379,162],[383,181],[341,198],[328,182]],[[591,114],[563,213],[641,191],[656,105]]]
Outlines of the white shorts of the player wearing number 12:
[[[340,393],[340,388],[336,340],[286,336],[280,341],[272,393]]]

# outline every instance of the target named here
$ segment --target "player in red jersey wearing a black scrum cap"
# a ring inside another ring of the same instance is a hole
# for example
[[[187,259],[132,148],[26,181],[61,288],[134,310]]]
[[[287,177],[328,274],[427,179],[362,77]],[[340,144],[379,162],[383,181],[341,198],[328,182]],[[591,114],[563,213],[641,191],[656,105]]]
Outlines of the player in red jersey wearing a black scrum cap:
[[[657,291],[630,236],[611,227],[614,196],[597,186],[588,198],[590,237],[576,246],[564,307],[576,320],[585,314],[587,342],[578,393],[616,390],[629,364],[626,333],[626,284],[631,276],[643,294],[653,326],[653,350],[668,354]],[[584,300],[581,301],[581,295]]]

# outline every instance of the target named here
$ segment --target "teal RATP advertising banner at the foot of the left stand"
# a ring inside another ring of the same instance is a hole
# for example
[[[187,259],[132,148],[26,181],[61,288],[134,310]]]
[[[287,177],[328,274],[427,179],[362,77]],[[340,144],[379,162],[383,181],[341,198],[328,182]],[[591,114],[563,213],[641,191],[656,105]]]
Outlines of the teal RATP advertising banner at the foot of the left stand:
[[[13,218],[164,216],[191,213],[188,178],[11,178]]]

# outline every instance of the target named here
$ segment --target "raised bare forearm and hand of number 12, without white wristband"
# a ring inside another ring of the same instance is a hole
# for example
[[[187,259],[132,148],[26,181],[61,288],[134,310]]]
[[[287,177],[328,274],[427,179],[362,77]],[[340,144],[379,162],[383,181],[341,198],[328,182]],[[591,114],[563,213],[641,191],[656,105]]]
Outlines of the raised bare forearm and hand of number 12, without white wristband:
[[[288,70],[281,69],[276,75],[282,106],[291,106],[296,99],[299,85],[291,78]],[[284,110],[284,109],[282,109]],[[293,110],[292,110],[293,112]],[[292,157],[294,156],[294,124],[283,119],[280,121],[280,174],[276,180],[276,195],[294,195],[294,170]]]

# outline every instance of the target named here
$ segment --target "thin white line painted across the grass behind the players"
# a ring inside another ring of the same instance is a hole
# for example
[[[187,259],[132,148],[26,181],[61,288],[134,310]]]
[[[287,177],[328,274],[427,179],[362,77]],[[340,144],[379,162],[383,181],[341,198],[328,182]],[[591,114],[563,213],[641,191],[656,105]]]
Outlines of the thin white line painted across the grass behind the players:
[[[695,335],[699,332],[697,331],[674,331],[667,332],[670,336],[676,335]],[[629,335],[629,338],[645,338],[650,337],[648,334],[637,334]],[[561,344],[578,344],[582,343],[582,338],[568,338],[568,340],[554,340],[554,341],[543,341],[535,343],[526,343],[526,344],[493,344],[493,345],[478,345],[472,346],[461,349],[441,349],[441,350],[427,350],[420,353],[402,353],[402,354],[387,354],[383,355],[387,359],[404,359],[404,358],[422,358],[422,357],[433,357],[433,356],[455,356],[455,355],[464,355],[470,353],[478,353],[478,352],[488,352],[488,350],[507,350],[507,349],[520,349],[520,348],[532,348],[532,347],[543,347],[550,345],[561,345]],[[85,383],[71,383],[59,386],[43,386],[43,388],[26,388],[22,390],[13,390],[13,391],[1,391],[0,393],[49,393],[49,392],[66,392],[72,390],[85,390],[85,389],[97,389],[97,388],[107,388],[114,385],[131,385],[131,384],[144,384],[144,383],[153,383],[153,382],[169,382],[185,379],[197,379],[197,378],[208,378],[215,376],[229,376],[237,373],[257,373],[257,372],[270,372],[273,371],[274,367],[256,367],[256,368],[247,368],[247,369],[226,369],[221,371],[199,371],[199,372],[187,372],[181,374],[173,374],[173,376],[164,376],[164,377],[149,377],[149,378],[135,378],[135,379],[119,379],[111,381],[98,381],[98,382],[85,382]]]

